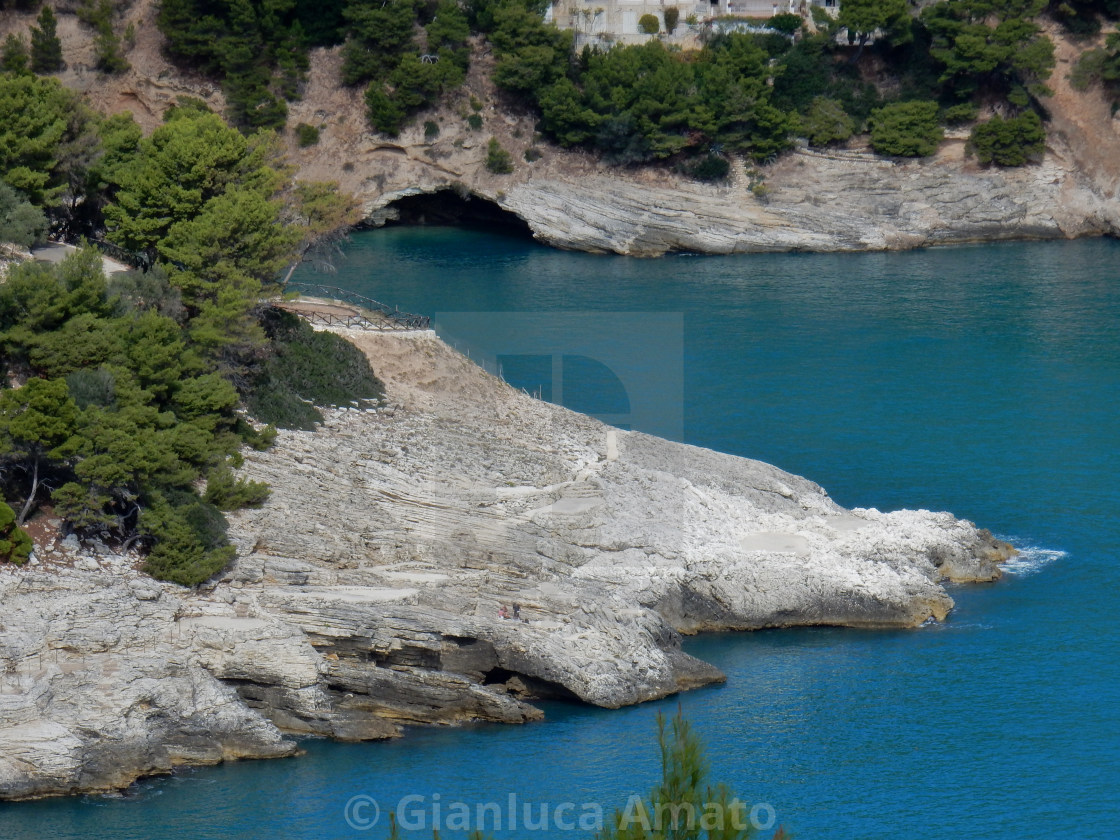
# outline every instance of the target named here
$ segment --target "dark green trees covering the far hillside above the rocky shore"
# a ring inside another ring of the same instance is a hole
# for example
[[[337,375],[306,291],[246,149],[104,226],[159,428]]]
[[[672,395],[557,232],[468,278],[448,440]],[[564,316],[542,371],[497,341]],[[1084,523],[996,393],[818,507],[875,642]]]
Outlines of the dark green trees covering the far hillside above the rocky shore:
[[[671,11],[669,34],[679,19]],[[939,127],[978,129],[969,148],[980,162],[1019,166],[1038,158],[1029,114],[1045,128],[1055,66],[1040,21],[1092,35],[1120,16],[1120,2],[940,0],[918,10],[903,0],[848,0],[836,19],[812,11],[811,20],[775,16],[763,32],[702,29],[701,45],[689,49],[643,19],[645,44],[597,41],[577,52],[571,30],[545,22],[540,0],[329,0],[314,9],[293,0],[160,0],[158,25],[171,58],[222,83],[226,118],[246,133],[283,128],[309,50],[337,46],[339,81],[364,87],[370,127],[396,136],[464,84],[477,44],[493,50],[501,104],[529,106],[551,141],[620,166],[666,161],[707,172],[702,161],[713,156],[764,161],[799,138],[824,147],[859,134],[876,152],[924,157],[940,142],[931,108]],[[95,32],[99,67],[127,68],[113,6],[83,0],[77,15]],[[29,48],[16,36],[4,44],[3,67],[59,69],[56,28],[45,4]],[[1114,39],[1088,49],[1075,83],[1117,90],[1118,50]],[[482,128],[477,111],[464,119]],[[884,123],[894,125],[888,137]],[[297,128],[301,146],[315,144],[314,127]],[[988,153],[993,138],[1001,150]]]

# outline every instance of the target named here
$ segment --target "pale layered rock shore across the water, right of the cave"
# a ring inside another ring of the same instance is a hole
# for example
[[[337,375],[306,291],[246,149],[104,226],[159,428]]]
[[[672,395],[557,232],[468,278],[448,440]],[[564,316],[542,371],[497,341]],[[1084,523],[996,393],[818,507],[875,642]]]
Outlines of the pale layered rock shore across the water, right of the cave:
[[[1055,141],[1055,147],[1061,143]],[[559,248],[655,256],[668,251],[883,251],[1120,231],[1120,205],[1060,151],[1020,170],[871,155],[788,155],[759,200],[740,178],[718,188],[605,174],[595,188],[534,178],[497,203]]]

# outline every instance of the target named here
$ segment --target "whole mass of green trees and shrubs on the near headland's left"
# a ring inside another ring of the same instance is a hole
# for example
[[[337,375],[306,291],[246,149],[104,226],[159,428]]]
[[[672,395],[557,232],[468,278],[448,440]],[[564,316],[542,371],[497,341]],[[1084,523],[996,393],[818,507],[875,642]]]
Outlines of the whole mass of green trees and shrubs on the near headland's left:
[[[78,535],[142,548],[153,576],[202,582],[233,556],[222,512],[268,495],[234,477],[243,447],[274,438],[262,423],[307,428],[315,404],[381,395],[354,347],[262,302],[353,221],[352,203],[295,183],[271,132],[243,134],[195,101],[143,138],[54,78],[4,74],[0,124],[3,239],[30,245],[49,220],[140,267],[106,278],[84,246],[0,284],[0,479],[15,511],[0,553],[26,553],[12,529],[49,503]]]

